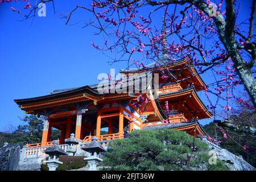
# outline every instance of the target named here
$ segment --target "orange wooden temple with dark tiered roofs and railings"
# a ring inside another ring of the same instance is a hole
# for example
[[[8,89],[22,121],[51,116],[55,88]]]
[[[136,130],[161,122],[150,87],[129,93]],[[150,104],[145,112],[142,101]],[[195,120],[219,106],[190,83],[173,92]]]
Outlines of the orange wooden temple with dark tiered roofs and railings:
[[[15,100],[27,114],[44,117],[42,142],[27,147],[51,145],[52,128],[61,131],[60,144],[71,133],[82,142],[90,142],[92,136],[98,140],[121,139],[133,130],[163,127],[185,131],[195,137],[204,135],[198,119],[212,115],[197,96],[197,91],[205,84],[186,60],[120,71],[123,76],[161,75],[163,72],[171,72],[172,77],[166,80],[159,76],[159,88],[146,93],[100,93],[97,85],[93,85]],[[140,103],[139,97],[147,98],[147,102]],[[166,103],[169,113],[166,113]],[[101,135],[103,128],[107,135]]]

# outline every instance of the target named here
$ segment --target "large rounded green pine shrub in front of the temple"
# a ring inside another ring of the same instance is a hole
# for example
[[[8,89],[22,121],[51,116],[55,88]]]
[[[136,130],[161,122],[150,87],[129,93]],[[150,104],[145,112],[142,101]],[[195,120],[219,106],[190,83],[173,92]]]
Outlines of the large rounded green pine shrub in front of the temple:
[[[135,130],[109,143],[104,170],[228,170],[220,160],[209,165],[208,152],[206,143],[181,131]]]

